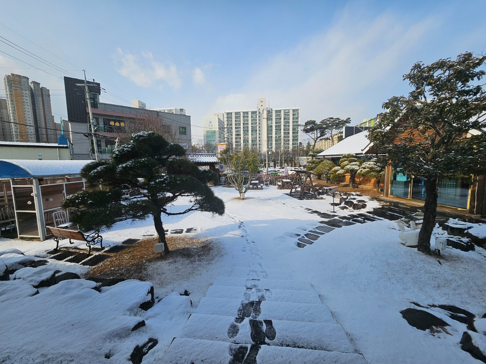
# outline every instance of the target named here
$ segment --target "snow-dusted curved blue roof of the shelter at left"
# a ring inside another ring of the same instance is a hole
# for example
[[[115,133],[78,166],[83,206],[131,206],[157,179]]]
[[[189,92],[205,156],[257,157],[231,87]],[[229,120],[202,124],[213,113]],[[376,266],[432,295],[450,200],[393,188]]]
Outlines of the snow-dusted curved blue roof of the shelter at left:
[[[89,162],[0,159],[0,178],[79,176],[81,168]]]

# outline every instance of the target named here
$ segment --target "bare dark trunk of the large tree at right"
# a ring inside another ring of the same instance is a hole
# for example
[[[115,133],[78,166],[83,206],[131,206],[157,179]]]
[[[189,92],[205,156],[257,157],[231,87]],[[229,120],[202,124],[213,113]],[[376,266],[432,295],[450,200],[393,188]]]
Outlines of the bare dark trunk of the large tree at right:
[[[425,204],[422,228],[418,234],[417,250],[430,254],[430,238],[435,226],[437,216],[437,176],[429,174],[425,181]]]

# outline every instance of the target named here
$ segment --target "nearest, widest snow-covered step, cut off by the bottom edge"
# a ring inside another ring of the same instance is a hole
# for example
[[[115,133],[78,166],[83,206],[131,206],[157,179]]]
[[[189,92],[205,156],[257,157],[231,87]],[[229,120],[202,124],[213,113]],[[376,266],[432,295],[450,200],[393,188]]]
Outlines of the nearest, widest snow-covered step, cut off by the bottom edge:
[[[175,338],[162,357],[164,364],[228,364],[243,361],[247,364],[366,364],[361,354],[187,338]]]

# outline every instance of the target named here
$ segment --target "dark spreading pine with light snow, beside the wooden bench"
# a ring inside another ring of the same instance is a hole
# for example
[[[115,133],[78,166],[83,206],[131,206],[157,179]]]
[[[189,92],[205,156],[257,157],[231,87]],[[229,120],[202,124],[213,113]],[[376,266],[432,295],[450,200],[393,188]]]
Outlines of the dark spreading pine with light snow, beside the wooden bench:
[[[215,174],[199,170],[185,154],[184,148],[156,132],[133,134],[111,160],[94,161],[82,168],[81,176],[92,187],[67,197],[63,207],[73,208],[71,220],[83,231],[109,230],[120,221],[152,216],[159,242],[169,251],[162,214],[225,212],[224,202],[207,185]],[[178,212],[167,208],[180,197],[189,198],[189,206]]]

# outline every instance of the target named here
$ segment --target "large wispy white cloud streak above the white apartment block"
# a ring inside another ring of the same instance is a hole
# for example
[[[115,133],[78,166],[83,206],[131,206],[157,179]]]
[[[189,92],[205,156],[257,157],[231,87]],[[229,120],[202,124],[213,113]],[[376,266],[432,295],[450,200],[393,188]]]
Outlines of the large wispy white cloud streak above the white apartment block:
[[[348,9],[329,30],[261,62],[239,93],[220,96],[212,109],[248,109],[263,94],[270,107],[301,107],[301,121],[350,116],[358,123],[376,115],[386,100],[382,95],[395,92],[390,88],[418,60],[411,62],[411,55],[434,20],[410,23],[351,13]]]

